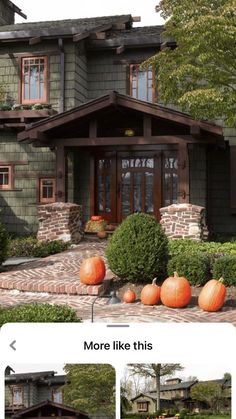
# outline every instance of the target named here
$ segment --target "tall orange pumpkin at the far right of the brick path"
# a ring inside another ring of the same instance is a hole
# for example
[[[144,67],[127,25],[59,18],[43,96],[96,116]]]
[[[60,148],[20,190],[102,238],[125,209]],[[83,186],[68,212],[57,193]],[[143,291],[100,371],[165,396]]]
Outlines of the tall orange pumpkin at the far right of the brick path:
[[[225,296],[226,287],[223,278],[210,279],[199,294],[198,305],[205,311],[218,311],[224,304]]]

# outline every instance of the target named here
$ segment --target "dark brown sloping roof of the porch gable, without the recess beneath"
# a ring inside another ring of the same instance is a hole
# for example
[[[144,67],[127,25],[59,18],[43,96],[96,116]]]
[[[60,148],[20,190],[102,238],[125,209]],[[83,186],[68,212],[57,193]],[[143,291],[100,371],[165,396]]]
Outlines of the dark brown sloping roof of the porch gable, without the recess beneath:
[[[218,125],[195,120],[182,112],[174,111],[158,104],[141,101],[115,91],[86,102],[69,111],[26,126],[26,129],[18,134],[18,140],[20,142],[40,141],[47,145],[50,144],[50,139],[52,138],[65,138],[65,133],[69,132],[72,127],[75,127],[76,123],[80,123],[83,120],[90,121],[91,119],[106,117],[108,110],[133,112],[139,116],[149,117],[149,119],[154,118],[162,123],[182,127],[185,129],[185,134],[188,133],[189,135],[195,136],[204,134],[205,136],[210,135],[218,140],[223,140],[222,127]],[[152,135],[150,129],[149,135]]]

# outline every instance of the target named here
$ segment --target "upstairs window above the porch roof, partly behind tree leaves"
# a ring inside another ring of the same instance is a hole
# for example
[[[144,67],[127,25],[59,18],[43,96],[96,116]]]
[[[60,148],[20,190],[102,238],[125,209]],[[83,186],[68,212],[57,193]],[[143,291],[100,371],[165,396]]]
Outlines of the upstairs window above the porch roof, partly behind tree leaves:
[[[130,95],[136,99],[153,102],[154,83],[152,67],[141,69],[140,65],[130,66]]]

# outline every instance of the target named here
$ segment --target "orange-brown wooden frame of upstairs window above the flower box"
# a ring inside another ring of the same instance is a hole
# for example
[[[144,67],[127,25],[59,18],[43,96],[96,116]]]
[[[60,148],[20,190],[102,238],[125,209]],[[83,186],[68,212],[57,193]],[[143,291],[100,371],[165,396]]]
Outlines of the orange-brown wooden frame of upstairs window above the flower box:
[[[26,60],[30,60],[30,59],[44,59],[44,94],[43,94],[43,98],[37,98],[37,99],[25,99],[24,98],[24,62]],[[20,102],[22,104],[25,105],[33,105],[35,103],[48,103],[48,91],[49,91],[49,85],[48,85],[48,80],[49,80],[49,66],[48,66],[48,56],[47,55],[27,55],[27,56],[23,56],[21,57],[20,60]]]

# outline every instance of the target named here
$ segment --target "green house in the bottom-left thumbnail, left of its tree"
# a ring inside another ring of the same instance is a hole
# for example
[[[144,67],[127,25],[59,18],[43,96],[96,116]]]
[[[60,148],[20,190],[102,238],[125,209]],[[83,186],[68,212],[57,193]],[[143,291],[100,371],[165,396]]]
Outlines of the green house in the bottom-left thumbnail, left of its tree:
[[[62,387],[65,383],[66,376],[56,375],[54,371],[10,374],[7,369],[5,375],[5,417],[11,418],[14,415],[23,417],[21,416],[22,412],[35,406],[41,408],[47,400],[54,403],[53,407],[63,405]]]

